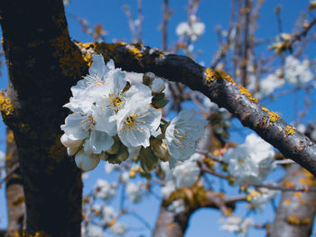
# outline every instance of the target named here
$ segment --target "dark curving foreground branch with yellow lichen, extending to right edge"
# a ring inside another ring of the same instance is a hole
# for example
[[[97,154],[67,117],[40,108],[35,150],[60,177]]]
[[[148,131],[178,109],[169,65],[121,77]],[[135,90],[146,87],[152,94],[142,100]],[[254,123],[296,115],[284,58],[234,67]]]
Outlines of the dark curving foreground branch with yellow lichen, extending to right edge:
[[[316,176],[316,144],[296,132],[274,112],[260,105],[244,87],[239,87],[226,73],[203,68],[185,56],[164,54],[139,44],[79,43],[85,59],[90,53],[102,53],[114,59],[116,67],[127,71],[152,71],[169,81],[181,82],[200,91],[220,107],[228,109],[244,126],[254,130],[283,155],[299,163]]]

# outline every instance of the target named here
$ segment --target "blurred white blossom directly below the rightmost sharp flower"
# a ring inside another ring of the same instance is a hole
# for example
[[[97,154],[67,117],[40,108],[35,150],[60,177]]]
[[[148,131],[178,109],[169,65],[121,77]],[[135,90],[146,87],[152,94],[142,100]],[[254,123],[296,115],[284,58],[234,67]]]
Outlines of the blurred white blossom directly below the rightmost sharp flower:
[[[172,176],[175,178],[175,187],[191,187],[197,181],[200,175],[200,168],[197,160],[200,154],[194,154],[189,160],[185,160],[172,170]]]

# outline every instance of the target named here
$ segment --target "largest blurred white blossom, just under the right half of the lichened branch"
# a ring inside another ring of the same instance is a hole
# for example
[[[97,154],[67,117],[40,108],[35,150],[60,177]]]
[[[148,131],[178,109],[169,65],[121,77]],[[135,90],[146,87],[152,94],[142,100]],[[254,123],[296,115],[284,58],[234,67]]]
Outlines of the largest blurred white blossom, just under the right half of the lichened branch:
[[[262,183],[274,169],[274,149],[254,133],[237,148],[229,148],[223,159],[228,163],[228,173],[238,185]]]

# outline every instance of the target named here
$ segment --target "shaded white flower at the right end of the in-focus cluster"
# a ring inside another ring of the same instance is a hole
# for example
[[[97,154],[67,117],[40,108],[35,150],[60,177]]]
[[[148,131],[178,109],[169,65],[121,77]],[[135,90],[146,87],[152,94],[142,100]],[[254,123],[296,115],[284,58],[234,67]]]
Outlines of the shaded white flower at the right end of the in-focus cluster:
[[[194,109],[183,110],[167,127],[165,138],[172,162],[187,160],[194,153],[196,141],[203,136],[207,122],[196,115]]]

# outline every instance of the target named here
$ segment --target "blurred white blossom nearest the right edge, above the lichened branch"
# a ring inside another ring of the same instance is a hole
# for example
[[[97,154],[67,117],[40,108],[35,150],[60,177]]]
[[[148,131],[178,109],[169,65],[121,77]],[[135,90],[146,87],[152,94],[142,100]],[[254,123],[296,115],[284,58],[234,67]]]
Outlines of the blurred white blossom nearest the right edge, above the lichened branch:
[[[312,80],[313,75],[310,69],[310,61],[294,58],[292,55],[287,56],[284,66],[284,78],[293,86],[300,87],[304,83]]]

